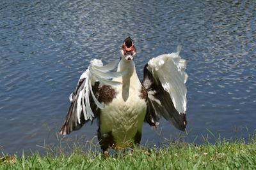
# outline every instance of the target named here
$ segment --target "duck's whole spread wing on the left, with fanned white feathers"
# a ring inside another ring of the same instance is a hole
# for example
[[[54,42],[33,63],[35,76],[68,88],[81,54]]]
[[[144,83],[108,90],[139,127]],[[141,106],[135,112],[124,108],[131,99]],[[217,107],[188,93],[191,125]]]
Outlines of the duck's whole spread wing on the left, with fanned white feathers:
[[[70,94],[70,107],[60,134],[70,134],[80,129],[88,120],[99,116],[99,109],[104,108],[104,88],[118,85],[120,82],[109,80],[122,76],[123,73],[110,72],[116,67],[118,60],[103,66],[101,60],[94,59],[79,78],[76,90]]]

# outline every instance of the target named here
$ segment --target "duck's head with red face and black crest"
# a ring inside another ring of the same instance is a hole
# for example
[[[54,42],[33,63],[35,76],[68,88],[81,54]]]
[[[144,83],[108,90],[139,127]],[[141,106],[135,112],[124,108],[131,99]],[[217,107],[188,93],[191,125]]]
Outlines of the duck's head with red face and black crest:
[[[130,37],[125,38],[121,49],[121,57],[125,60],[132,60],[136,54],[134,43]]]

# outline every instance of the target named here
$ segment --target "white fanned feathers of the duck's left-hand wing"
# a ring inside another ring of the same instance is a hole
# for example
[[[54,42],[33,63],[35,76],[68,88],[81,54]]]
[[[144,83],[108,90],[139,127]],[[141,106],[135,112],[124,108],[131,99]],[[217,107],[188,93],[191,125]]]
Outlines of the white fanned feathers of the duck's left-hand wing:
[[[93,94],[92,85],[95,82],[100,81],[102,85],[117,85],[120,84],[118,81],[108,80],[110,78],[115,78],[118,76],[122,76],[124,73],[121,72],[109,72],[114,69],[118,64],[118,60],[113,62],[109,62],[103,66],[101,60],[93,59],[90,62],[90,66],[84,73],[80,76],[79,81],[85,81],[83,89],[77,94],[77,121],[80,124],[81,120],[81,112],[83,111],[85,120],[92,120],[94,117],[92,108],[90,107],[90,94],[92,94],[93,101],[97,105],[98,108],[104,108],[104,106],[97,100],[95,95]],[[77,84],[78,87],[78,84]],[[72,102],[72,94],[70,94],[70,102]],[[85,103],[84,103],[85,101]]]

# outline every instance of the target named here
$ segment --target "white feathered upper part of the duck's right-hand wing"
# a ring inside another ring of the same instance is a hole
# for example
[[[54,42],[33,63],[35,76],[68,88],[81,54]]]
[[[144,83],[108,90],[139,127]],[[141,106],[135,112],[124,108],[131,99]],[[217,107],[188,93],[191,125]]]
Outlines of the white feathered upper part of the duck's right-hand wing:
[[[188,74],[185,72],[186,60],[179,56],[180,50],[181,47],[178,46],[176,53],[159,55],[149,60],[147,69],[170,94],[175,109],[179,113],[184,113],[187,110],[185,83],[188,80]]]

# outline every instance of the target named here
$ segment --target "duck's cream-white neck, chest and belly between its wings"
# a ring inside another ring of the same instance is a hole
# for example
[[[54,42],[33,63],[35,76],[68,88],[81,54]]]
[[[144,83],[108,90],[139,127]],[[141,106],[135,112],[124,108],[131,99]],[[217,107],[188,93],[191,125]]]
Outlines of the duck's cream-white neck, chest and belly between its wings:
[[[104,143],[102,134],[113,138],[113,147],[125,148],[132,145],[132,140],[140,143],[142,125],[147,112],[147,97],[144,87],[137,76],[133,61],[121,60],[118,71],[127,73],[113,79],[122,82],[113,86],[115,97],[100,111],[99,138]],[[131,140],[132,139],[132,140]]]

